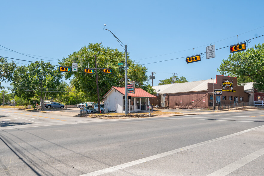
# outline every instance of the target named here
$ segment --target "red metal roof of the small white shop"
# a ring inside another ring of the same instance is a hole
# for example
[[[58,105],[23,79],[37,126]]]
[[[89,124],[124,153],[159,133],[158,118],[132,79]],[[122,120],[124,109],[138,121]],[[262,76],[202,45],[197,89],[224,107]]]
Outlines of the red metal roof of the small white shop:
[[[118,92],[125,95],[125,87],[114,87],[113,86],[111,89],[116,89]],[[105,98],[105,96],[110,92],[110,90],[103,96],[103,98]],[[128,95],[134,98],[157,98],[155,95],[151,95],[150,93],[146,92],[145,90],[141,88],[135,88],[135,93],[128,94]]]

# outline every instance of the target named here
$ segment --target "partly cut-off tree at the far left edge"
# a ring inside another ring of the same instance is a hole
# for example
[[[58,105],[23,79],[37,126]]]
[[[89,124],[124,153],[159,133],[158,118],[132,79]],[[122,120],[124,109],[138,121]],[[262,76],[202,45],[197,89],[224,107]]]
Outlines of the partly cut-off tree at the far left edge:
[[[16,63],[14,61],[8,63],[6,58],[0,57],[0,89],[4,88],[1,86],[3,81],[11,81],[15,69]]]

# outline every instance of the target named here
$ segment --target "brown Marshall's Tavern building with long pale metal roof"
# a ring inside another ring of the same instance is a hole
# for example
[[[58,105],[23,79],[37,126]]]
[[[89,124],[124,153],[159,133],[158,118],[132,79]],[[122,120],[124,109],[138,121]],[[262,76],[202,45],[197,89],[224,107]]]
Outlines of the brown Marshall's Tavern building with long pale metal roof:
[[[249,93],[237,85],[236,77],[216,75],[216,79],[153,86],[156,104],[169,108],[207,108],[248,102]],[[154,102],[155,103],[155,102]]]

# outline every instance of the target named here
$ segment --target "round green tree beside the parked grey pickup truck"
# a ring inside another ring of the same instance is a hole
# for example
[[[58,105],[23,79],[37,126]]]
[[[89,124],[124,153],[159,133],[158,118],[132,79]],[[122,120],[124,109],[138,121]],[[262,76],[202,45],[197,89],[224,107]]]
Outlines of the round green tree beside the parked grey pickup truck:
[[[57,97],[65,92],[61,84],[62,74],[49,62],[35,62],[26,66],[18,66],[14,72],[11,86],[15,95],[24,100],[40,98],[41,107],[45,109],[46,97]]]

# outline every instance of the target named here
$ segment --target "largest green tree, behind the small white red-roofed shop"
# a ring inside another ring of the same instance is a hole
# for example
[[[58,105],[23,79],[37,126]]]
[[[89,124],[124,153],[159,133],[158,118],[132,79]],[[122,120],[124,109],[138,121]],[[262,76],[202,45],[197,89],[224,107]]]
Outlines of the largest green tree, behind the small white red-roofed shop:
[[[71,84],[76,90],[86,95],[87,101],[97,101],[96,76],[84,73],[84,68],[95,68],[97,57],[98,84],[100,99],[112,86],[124,86],[125,67],[117,63],[124,63],[125,53],[113,48],[105,48],[102,43],[89,43],[79,51],[63,58],[61,65],[72,66],[78,63],[78,72],[65,73],[65,78],[71,78]],[[112,69],[112,74],[103,73],[103,68]],[[142,88],[148,82],[147,68],[135,63],[128,57],[128,80],[135,81],[135,87]]]

